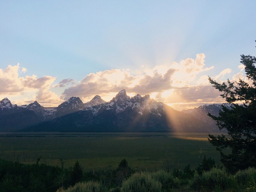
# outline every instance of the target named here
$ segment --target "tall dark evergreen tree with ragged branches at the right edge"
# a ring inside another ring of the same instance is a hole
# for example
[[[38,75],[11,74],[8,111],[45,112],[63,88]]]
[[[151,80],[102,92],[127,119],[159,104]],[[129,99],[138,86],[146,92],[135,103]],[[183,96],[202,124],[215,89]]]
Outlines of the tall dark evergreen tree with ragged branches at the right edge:
[[[245,66],[246,80],[218,83],[209,77],[221,96],[234,104],[231,109],[222,106],[218,117],[208,114],[220,130],[227,129],[227,136],[209,134],[208,140],[220,151],[221,162],[231,172],[256,167],[256,57],[241,55],[240,62]]]

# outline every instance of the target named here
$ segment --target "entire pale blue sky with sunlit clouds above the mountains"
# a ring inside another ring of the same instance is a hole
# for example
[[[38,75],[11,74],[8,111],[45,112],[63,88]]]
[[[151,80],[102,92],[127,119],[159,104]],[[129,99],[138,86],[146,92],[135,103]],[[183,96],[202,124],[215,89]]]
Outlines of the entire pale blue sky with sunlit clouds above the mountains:
[[[256,1],[0,0],[0,100],[149,94],[176,110],[224,103],[208,81],[245,79]]]

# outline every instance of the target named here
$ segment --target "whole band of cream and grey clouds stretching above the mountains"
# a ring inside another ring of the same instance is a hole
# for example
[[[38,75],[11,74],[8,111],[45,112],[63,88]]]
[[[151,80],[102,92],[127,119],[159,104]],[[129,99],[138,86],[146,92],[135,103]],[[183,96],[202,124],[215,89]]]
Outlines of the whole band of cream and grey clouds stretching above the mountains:
[[[180,62],[154,67],[144,64],[134,71],[110,69],[90,73],[76,84],[74,79],[63,79],[58,84],[52,85],[56,77],[36,75],[21,77],[19,72],[27,72],[27,69],[23,67],[19,70],[18,63],[0,69],[0,96],[24,94],[26,97],[23,97],[22,101],[36,100],[43,106],[58,106],[73,96],[80,97],[86,102],[98,94],[105,101],[110,101],[117,92],[126,89],[130,96],[150,94],[156,101],[171,104],[177,109],[181,109],[177,106],[182,104],[198,107],[196,105],[225,102],[220,97],[221,93],[208,81],[208,71],[213,68],[214,66],[207,67],[205,55],[201,53],[195,58],[187,58]],[[238,81],[239,78],[246,80],[242,73],[243,66],[239,65],[238,68],[241,71],[234,74],[231,81]],[[226,81],[226,76],[230,76],[233,72],[230,68],[224,69],[211,78],[222,83]],[[59,97],[55,91],[63,89]]]

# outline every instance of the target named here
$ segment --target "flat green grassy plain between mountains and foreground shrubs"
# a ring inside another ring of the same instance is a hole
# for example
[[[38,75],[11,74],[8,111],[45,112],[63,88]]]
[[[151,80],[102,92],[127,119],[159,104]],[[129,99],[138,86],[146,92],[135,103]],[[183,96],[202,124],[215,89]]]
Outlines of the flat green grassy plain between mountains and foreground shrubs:
[[[216,134],[216,133],[215,133]],[[220,164],[217,150],[206,133],[0,133],[0,158],[23,163],[73,166],[76,160],[84,170],[111,166],[123,158],[135,170],[155,171],[195,168],[201,156]]]

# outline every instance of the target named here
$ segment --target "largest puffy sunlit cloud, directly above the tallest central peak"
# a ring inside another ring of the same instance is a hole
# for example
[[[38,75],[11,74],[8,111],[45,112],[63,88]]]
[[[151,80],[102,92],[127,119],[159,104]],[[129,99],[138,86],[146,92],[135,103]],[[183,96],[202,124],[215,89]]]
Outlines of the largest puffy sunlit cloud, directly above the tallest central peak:
[[[131,74],[128,69],[90,73],[77,85],[65,89],[62,96],[65,100],[72,96],[89,100],[95,94],[100,94],[111,99],[118,91],[126,89],[130,94],[156,93],[155,97],[159,99],[161,92],[171,90],[173,87],[188,86],[199,73],[213,69],[213,66],[205,68],[204,58],[204,54],[197,54],[196,59],[188,58],[180,63],[156,65],[151,69],[141,66],[137,75]]]

